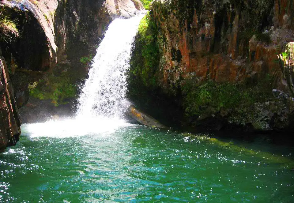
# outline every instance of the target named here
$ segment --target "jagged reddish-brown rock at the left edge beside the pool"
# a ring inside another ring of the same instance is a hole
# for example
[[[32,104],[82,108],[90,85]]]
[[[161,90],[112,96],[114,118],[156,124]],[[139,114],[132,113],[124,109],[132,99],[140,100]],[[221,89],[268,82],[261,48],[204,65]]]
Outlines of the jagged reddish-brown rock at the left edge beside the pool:
[[[13,88],[5,61],[0,59],[0,152],[15,145],[21,134]]]

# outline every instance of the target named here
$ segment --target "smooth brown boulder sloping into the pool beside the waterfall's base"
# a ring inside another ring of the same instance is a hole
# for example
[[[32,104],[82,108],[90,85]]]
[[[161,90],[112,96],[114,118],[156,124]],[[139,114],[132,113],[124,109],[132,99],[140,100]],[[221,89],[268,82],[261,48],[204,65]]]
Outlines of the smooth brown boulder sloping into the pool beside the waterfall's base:
[[[164,126],[160,122],[158,122],[155,118],[152,118],[151,116],[139,111],[136,107],[133,105],[130,105],[130,107],[127,110],[127,113],[136,121],[139,123],[153,127],[153,128],[167,128],[167,126]]]

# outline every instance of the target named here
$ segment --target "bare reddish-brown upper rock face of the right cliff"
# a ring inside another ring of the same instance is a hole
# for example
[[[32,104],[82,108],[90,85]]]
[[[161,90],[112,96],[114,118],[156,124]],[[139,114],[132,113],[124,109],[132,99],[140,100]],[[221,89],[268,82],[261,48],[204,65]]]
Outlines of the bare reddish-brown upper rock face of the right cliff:
[[[269,73],[276,77],[275,86],[285,91],[277,54],[294,41],[290,1],[154,2],[158,38],[163,39],[165,86],[191,75],[236,83]]]

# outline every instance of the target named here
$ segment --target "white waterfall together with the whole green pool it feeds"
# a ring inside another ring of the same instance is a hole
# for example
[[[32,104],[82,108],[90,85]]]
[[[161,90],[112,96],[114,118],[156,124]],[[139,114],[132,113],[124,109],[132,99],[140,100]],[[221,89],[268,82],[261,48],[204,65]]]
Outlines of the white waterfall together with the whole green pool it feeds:
[[[115,119],[142,17],[109,25],[76,118],[21,126],[0,154],[0,202],[293,202],[293,149]]]

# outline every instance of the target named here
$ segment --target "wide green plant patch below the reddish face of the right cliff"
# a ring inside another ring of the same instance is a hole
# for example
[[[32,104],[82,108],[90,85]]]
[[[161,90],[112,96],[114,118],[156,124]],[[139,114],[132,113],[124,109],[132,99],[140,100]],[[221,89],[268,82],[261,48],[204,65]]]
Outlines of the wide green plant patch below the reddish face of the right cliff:
[[[252,85],[216,83],[212,80],[200,83],[195,78],[186,79],[181,87],[183,107],[187,116],[201,115],[208,107],[212,112],[250,107],[273,98],[272,84],[273,78],[269,75]]]

